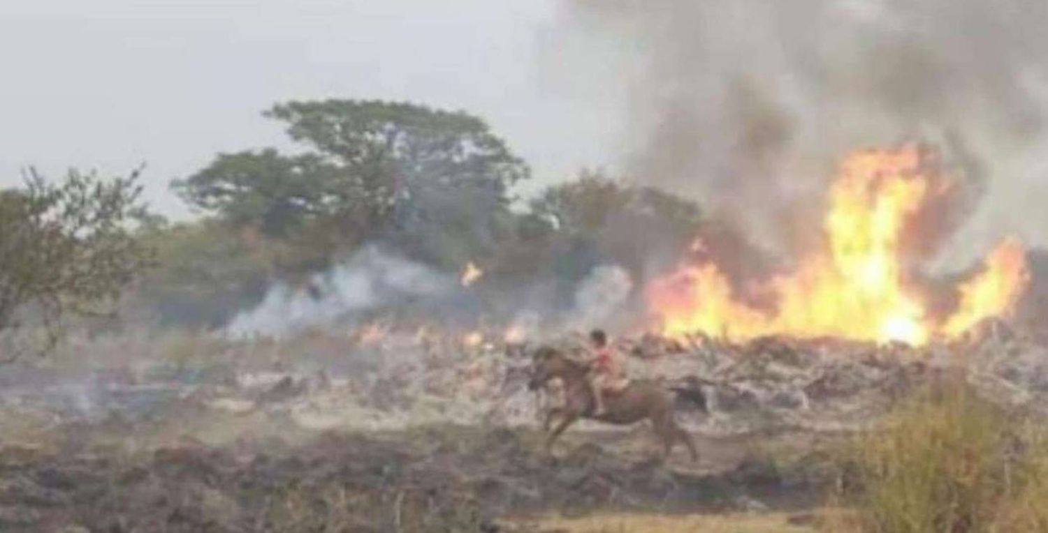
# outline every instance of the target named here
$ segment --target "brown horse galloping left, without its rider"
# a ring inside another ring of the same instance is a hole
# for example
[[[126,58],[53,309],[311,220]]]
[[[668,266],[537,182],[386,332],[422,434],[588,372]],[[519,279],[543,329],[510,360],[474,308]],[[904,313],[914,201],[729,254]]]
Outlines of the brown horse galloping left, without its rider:
[[[667,459],[678,442],[683,442],[692,454],[692,461],[698,460],[698,451],[692,437],[681,428],[673,418],[674,395],[680,394],[699,404],[705,409],[701,393],[690,390],[668,388],[653,381],[632,381],[621,391],[608,393],[605,398],[606,412],[602,416],[593,416],[594,400],[589,387],[589,365],[572,360],[563,352],[542,347],[534,353],[534,367],[528,387],[532,391],[545,386],[551,379],[560,378],[564,385],[564,405],[549,409],[543,428],[547,431],[546,452],[565,429],[578,419],[585,418],[608,424],[627,425],[651,420],[656,435],[662,441],[662,459]],[[560,417],[560,423],[552,431],[549,430],[553,420]]]

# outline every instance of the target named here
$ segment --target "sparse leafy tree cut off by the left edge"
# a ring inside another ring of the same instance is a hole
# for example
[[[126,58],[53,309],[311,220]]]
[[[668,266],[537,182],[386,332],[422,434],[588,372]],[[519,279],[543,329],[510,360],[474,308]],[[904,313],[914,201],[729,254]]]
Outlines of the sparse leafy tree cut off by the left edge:
[[[133,227],[151,220],[137,178],[70,171],[53,184],[30,170],[24,187],[0,191],[0,334],[39,318],[50,348],[65,315],[112,312],[153,262]]]

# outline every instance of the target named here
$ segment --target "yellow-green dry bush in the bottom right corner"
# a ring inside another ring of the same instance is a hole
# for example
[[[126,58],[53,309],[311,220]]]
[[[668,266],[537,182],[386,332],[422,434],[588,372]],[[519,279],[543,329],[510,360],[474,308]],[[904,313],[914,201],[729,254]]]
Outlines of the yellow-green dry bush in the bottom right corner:
[[[1048,531],[1044,439],[962,381],[938,383],[856,439],[849,529],[870,533]]]

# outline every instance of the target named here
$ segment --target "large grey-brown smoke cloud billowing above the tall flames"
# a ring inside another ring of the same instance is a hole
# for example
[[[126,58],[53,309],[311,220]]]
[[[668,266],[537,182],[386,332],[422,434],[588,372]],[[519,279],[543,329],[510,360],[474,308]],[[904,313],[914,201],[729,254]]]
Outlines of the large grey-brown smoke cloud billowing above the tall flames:
[[[964,180],[949,232],[991,228],[958,237],[978,253],[1000,231],[1048,238],[1044,27],[1041,0],[563,0],[545,35],[565,87],[612,93],[593,99],[621,115],[630,176],[761,246],[812,245],[848,150],[920,139]]]

